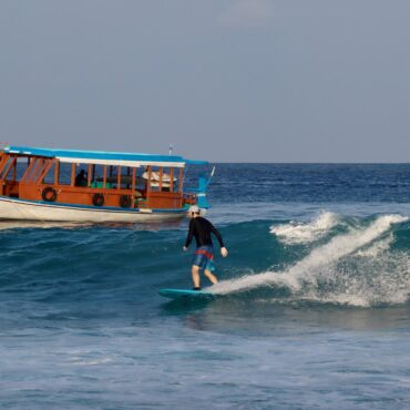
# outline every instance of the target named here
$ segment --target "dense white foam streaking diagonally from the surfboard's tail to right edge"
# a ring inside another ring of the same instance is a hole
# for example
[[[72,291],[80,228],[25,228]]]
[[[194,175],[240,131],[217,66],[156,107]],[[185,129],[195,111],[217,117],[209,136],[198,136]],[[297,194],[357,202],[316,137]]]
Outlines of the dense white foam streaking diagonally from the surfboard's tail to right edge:
[[[401,260],[399,267],[394,269],[394,275],[400,275],[401,281],[394,280],[391,275],[383,275],[382,271],[377,276],[378,279],[376,281],[371,279],[382,289],[382,294],[378,293],[377,295],[375,294],[375,284],[368,285],[363,278],[353,277],[342,269],[338,270],[335,265],[341,258],[352,254],[356,255],[362,247],[371,245],[386,234],[393,224],[406,221],[408,218],[401,215],[379,216],[368,227],[351,228],[349,233],[334,237],[329,243],[315,248],[308,256],[284,271],[266,271],[221,281],[214,285],[211,290],[215,294],[229,294],[274,286],[276,288],[285,287],[293,295],[298,295],[300,298],[309,300],[332,301],[355,306],[369,306],[375,299],[379,303],[403,303],[408,299],[410,286],[410,264],[406,263],[406,260]],[[383,246],[386,248],[386,240]],[[368,250],[368,256],[375,257],[380,252],[382,252],[382,246],[379,246],[377,252]],[[381,267],[379,266],[378,268],[380,269]],[[371,269],[369,267],[367,270]],[[388,267],[386,268],[388,274],[387,269]],[[398,271],[400,269],[402,271]],[[324,295],[318,286],[319,283],[329,283],[334,287]]]

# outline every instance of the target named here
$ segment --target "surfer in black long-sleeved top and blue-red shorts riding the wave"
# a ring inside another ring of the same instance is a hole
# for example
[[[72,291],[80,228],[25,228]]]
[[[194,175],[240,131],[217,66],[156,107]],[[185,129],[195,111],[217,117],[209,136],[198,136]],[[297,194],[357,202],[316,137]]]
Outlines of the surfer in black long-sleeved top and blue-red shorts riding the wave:
[[[214,225],[201,216],[199,208],[196,205],[189,207],[189,230],[186,237],[185,246],[183,250],[188,250],[191,242],[195,236],[196,240],[196,250],[192,262],[192,279],[194,283],[194,290],[201,290],[199,286],[199,270],[204,269],[204,275],[213,283],[216,284],[218,279],[213,274],[215,270],[213,259],[214,259],[214,246],[212,243],[211,234],[216,236],[216,239],[221,246],[221,254],[223,257],[228,255],[228,250],[224,245],[224,240],[219,232],[214,227]]]

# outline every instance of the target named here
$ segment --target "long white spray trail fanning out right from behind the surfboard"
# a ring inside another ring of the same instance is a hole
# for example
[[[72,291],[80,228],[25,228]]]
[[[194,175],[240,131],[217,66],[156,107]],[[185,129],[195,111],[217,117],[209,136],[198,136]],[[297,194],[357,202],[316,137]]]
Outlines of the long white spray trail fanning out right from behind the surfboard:
[[[409,258],[406,253],[391,252],[391,233],[387,238],[385,235],[394,224],[407,221],[401,215],[379,216],[369,226],[350,227],[335,236],[283,271],[221,281],[212,291],[234,294],[271,287],[286,288],[293,299],[300,300],[356,306],[404,303],[410,291]]]

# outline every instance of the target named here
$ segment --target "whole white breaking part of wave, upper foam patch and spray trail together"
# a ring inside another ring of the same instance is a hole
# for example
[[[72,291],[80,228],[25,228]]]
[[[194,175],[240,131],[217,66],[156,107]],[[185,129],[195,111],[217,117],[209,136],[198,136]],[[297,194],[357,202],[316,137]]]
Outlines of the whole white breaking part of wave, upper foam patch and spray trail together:
[[[408,221],[401,215],[380,215],[349,223],[324,213],[308,224],[273,226],[270,232],[287,245],[325,238],[326,243],[281,270],[246,275],[214,285],[214,294],[256,293],[270,300],[309,300],[351,306],[403,304],[410,295],[408,249],[394,248],[396,230]]]

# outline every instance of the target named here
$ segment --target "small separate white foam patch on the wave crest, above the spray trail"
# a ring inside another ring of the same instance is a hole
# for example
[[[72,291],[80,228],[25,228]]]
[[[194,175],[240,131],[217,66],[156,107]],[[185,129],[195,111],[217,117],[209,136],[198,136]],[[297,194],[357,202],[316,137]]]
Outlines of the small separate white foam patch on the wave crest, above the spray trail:
[[[287,245],[308,244],[325,236],[339,222],[337,214],[322,212],[309,223],[290,222],[289,224],[271,226],[270,233]]]

